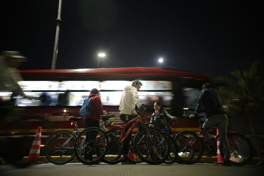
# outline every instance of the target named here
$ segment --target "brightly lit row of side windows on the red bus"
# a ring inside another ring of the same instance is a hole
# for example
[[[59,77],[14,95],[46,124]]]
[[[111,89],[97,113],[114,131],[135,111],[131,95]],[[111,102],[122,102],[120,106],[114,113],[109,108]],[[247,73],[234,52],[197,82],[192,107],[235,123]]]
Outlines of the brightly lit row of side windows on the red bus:
[[[170,81],[141,81],[138,92],[141,104],[153,106],[159,101],[169,106],[173,97]],[[35,99],[17,99],[18,106],[81,106],[89,96],[89,91],[97,88],[103,105],[119,105],[125,86],[132,81],[21,81],[19,82],[27,95]]]

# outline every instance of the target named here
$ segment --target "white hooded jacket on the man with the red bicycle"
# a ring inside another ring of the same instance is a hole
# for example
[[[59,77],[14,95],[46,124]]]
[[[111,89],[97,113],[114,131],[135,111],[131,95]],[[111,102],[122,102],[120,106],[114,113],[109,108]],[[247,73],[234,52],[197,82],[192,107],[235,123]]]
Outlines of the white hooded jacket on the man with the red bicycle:
[[[126,86],[119,103],[120,114],[136,115],[135,105],[140,107],[138,90],[133,86]]]

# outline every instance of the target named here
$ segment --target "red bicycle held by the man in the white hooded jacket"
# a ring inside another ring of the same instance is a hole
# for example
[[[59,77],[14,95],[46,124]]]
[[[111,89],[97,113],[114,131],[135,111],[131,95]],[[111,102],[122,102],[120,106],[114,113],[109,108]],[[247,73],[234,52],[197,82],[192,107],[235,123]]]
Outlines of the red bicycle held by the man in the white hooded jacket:
[[[141,107],[143,107],[143,105]],[[142,112],[142,114],[139,114],[139,112]],[[107,121],[109,116],[110,115],[101,116],[102,121]],[[110,152],[119,151],[119,156],[121,158],[121,145],[123,141],[138,124],[141,124],[142,129],[137,132],[134,141],[136,153],[148,164],[158,165],[163,163],[169,155],[170,148],[168,140],[160,130],[147,127],[142,116],[143,110],[141,109],[138,111],[138,116],[126,124],[106,124],[106,127],[110,129],[108,132],[104,132],[96,127],[85,129],[79,134],[75,141],[74,151],[76,158],[83,164],[94,164],[103,159],[108,150],[110,150]],[[125,128],[129,124],[132,124],[132,126],[124,133]],[[120,136],[115,136],[116,138],[114,137],[112,140],[109,140],[109,134],[115,134],[116,131],[120,131]],[[89,136],[88,139],[84,137],[85,134],[89,134],[87,135]]]

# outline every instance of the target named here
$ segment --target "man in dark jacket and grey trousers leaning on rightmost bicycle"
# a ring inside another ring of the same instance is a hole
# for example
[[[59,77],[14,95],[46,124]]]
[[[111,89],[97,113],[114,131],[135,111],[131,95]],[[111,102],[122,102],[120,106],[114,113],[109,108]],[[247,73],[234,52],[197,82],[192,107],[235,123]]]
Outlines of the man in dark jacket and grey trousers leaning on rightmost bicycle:
[[[224,146],[224,166],[231,166],[230,162],[230,146],[227,139],[227,126],[228,118],[226,111],[224,110],[222,100],[218,92],[212,89],[211,84],[205,83],[203,90],[200,92],[198,103],[193,115],[190,115],[190,119],[193,116],[197,116],[202,109],[206,112],[206,121],[203,124],[203,128],[211,128],[215,125],[219,128],[221,136],[221,142]],[[209,129],[204,130],[204,137],[209,143],[211,143],[211,137],[208,133]]]

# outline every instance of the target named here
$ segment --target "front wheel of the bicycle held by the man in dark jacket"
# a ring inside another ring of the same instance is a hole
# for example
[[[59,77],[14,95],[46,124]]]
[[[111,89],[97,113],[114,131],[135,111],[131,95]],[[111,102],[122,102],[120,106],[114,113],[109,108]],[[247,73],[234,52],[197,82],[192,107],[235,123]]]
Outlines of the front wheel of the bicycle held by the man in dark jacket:
[[[177,160],[183,164],[197,163],[203,155],[202,141],[192,131],[181,131],[174,141],[177,146]]]

